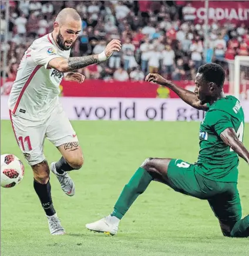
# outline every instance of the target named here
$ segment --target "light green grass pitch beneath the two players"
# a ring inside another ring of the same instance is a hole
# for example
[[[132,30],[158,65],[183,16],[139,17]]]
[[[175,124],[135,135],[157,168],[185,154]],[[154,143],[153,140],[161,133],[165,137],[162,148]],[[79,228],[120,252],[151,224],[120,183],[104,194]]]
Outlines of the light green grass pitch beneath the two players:
[[[117,236],[86,230],[85,224],[112,211],[124,184],[147,157],[181,158],[198,154],[198,122],[75,121],[85,156],[70,173],[76,194],[63,194],[51,175],[52,198],[67,234],[49,234],[45,214],[33,190],[32,170],[16,144],[9,121],[1,121],[1,154],[25,164],[25,177],[14,188],[1,188],[1,255],[249,255],[248,238],[224,238],[206,201],[152,182],[120,222]],[[249,125],[244,144],[249,148]],[[59,152],[46,141],[49,164]],[[243,216],[249,214],[249,168],[240,161],[238,181]]]

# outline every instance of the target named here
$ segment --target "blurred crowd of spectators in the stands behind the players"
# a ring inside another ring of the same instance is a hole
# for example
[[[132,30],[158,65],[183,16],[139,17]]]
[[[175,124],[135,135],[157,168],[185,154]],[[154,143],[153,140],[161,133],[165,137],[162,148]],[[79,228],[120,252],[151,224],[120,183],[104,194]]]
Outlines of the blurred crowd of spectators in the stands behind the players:
[[[71,56],[99,54],[113,38],[122,41],[122,51],[107,62],[78,72],[88,79],[142,81],[148,72],[164,77],[193,79],[205,63],[203,23],[195,24],[191,2],[187,1],[9,1],[9,34],[5,35],[5,4],[1,1],[1,75],[2,54],[8,50],[9,78],[33,40],[52,32],[60,9],[75,8],[82,16],[82,32]],[[245,24],[227,22],[208,25],[209,61],[228,71],[227,59],[249,55],[249,32]],[[8,44],[4,44],[5,36]]]

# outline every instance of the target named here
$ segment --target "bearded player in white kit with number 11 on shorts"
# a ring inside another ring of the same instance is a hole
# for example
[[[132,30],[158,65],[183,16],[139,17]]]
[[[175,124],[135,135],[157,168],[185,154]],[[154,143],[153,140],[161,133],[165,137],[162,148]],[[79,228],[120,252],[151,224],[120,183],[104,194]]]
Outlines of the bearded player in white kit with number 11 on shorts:
[[[82,20],[75,9],[60,11],[53,32],[33,41],[23,55],[8,102],[16,141],[33,169],[33,187],[52,235],[63,235],[65,230],[52,203],[49,166],[43,154],[45,137],[62,154],[58,162],[52,162],[51,171],[69,196],[75,194],[75,184],[68,171],[83,165],[78,138],[59,102],[60,82],[65,76],[82,83],[85,77],[71,71],[105,61],[121,49],[120,41],[114,39],[100,54],[71,58],[70,49],[81,29]]]

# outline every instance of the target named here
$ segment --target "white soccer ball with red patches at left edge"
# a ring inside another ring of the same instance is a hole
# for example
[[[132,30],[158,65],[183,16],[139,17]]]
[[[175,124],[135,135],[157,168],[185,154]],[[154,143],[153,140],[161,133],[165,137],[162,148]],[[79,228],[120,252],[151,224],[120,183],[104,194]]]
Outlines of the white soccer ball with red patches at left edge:
[[[1,155],[1,187],[12,188],[22,181],[24,165],[12,154]]]

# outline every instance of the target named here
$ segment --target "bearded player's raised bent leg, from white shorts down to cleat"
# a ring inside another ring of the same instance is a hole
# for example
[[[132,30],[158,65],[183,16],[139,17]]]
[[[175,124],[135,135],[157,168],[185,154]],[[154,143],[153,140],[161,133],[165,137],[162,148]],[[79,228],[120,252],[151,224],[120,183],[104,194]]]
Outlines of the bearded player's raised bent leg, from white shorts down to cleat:
[[[58,162],[52,162],[51,171],[58,178],[62,190],[67,195],[73,196],[75,184],[68,171],[82,167],[83,154],[76,133],[60,105],[54,109],[49,118],[46,137],[62,154]]]

